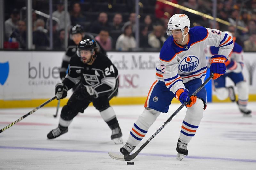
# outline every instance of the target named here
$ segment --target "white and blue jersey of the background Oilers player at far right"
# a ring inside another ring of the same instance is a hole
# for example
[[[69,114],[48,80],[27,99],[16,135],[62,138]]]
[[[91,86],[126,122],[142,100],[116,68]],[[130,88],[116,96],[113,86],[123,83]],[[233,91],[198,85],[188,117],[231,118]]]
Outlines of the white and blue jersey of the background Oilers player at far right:
[[[217,55],[218,52],[219,52],[219,47],[207,46],[205,48],[205,55],[207,58],[213,55]],[[235,42],[232,52],[227,57],[228,60],[234,60],[235,63],[231,68],[226,70],[226,73],[230,73],[230,72],[239,73],[242,71],[242,68],[244,67],[243,54],[244,54],[243,48]]]

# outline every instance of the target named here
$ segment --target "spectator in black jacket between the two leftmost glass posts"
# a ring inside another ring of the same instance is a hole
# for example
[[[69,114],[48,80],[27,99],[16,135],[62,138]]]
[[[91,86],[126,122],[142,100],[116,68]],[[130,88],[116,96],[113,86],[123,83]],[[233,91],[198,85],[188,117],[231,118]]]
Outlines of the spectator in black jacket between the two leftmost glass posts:
[[[35,45],[36,49],[45,49],[46,46],[49,46],[49,38],[44,26],[44,20],[36,20],[35,31],[33,31],[33,44]]]

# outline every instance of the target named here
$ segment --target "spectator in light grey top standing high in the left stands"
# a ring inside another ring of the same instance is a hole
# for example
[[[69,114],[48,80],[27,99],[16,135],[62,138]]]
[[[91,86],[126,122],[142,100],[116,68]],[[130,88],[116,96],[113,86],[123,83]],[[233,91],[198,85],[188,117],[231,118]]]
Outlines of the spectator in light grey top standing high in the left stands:
[[[54,11],[52,13],[53,17],[56,17],[60,20],[58,30],[65,29],[65,11],[63,11],[63,10],[64,10],[63,0],[60,0],[57,4],[57,11]],[[68,30],[69,30],[70,29],[70,15],[68,12],[66,14],[67,14],[66,26],[68,27]]]

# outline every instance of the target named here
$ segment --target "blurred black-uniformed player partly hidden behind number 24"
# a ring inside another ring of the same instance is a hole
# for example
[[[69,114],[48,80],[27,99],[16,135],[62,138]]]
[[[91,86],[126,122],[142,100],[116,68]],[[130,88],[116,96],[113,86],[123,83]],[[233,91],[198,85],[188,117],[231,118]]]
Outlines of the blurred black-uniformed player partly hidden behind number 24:
[[[66,50],[65,55],[63,56],[62,64],[60,68],[61,80],[63,80],[66,76],[70,58],[76,54],[77,45],[79,44],[80,41],[88,38],[94,39],[94,37],[91,34],[84,34],[83,28],[79,24],[73,26],[70,29],[70,40],[68,41],[68,48]],[[100,46],[100,44],[97,41],[96,41],[96,45],[100,53],[103,53],[106,55],[106,51]]]

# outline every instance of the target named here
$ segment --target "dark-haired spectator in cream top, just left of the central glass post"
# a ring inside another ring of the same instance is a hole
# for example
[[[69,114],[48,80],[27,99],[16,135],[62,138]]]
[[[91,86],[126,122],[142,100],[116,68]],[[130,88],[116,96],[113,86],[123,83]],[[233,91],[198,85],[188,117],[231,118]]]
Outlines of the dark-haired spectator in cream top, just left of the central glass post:
[[[124,32],[121,34],[116,41],[116,50],[128,51],[131,48],[136,47],[135,38],[132,36],[132,26],[127,25],[124,27]]]

